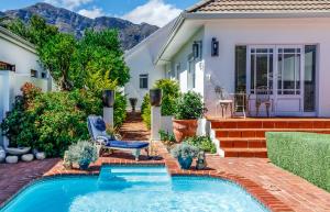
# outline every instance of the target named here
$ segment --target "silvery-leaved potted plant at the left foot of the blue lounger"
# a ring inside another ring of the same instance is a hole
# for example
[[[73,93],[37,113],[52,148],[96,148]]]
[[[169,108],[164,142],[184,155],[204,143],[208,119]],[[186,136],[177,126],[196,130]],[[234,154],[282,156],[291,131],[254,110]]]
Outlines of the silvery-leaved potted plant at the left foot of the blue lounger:
[[[81,141],[69,146],[64,155],[64,165],[72,168],[74,164],[78,164],[82,170],[88,169],[90,163],[98,159],[97,146],[90,142]]]

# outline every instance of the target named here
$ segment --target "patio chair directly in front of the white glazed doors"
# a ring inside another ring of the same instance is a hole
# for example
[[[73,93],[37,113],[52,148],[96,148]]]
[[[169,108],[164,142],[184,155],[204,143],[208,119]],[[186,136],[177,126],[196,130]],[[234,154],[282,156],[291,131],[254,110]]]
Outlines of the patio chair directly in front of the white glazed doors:
[[[256,109],[256,116],[258,116],[260,107],[265,104],[267,118],[270,116],[270,108],[272,105],[271,99],[271,89],[266,86],[261,86],[255,89],[255,109]]]

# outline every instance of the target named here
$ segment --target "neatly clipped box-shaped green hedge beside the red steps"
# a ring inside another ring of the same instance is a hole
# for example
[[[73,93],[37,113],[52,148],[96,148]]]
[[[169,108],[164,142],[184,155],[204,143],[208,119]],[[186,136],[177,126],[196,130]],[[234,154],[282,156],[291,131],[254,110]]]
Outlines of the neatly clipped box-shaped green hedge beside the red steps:
[[[266,133],[271,161],[330,191],[330,135]]]

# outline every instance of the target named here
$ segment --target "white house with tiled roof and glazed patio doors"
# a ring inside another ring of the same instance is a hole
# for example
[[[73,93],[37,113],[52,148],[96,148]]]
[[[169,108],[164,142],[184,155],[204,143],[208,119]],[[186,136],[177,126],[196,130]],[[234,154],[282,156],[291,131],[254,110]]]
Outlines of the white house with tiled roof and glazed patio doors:
[[[155,58],[135,53],[128,63],[132,80],[141,75],[136,69],[175,78],[182,91],[202,94],[209,115],[218,114],[217,87],[245,92],[253,114],[255,89],[263,86],[273,116],[330,116],[330,1],[205,0],[170,26],[168,35],[138,46],[147,52],[150,43],[164,44],[152,45],[160,49]]]

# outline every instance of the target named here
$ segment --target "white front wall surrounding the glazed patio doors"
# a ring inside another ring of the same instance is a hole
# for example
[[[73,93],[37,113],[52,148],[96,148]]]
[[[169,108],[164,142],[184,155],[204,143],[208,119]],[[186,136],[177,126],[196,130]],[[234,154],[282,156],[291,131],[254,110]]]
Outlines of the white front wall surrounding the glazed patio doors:
[[[215,114],[217,99],[215,85],[234,91],[234,49],[239,44],[318,44],[319,69],[317,75],[318,115],[330,116],[330,19],[264,19],[210,20],[205,24],[205,102]],[[219,57],[211,57],[211,40],[220,44]]]

